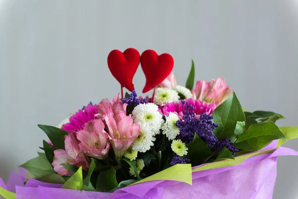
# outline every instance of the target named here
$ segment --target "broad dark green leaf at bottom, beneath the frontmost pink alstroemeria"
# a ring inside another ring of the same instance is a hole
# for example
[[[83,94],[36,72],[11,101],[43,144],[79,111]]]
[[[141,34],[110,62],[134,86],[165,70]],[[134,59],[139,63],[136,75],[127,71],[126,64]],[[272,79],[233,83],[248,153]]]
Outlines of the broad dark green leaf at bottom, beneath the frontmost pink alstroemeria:
[[[116,180],[116,170],[112,167],[98,175],[96,183],[97,192],[109,192],[118,186]]]

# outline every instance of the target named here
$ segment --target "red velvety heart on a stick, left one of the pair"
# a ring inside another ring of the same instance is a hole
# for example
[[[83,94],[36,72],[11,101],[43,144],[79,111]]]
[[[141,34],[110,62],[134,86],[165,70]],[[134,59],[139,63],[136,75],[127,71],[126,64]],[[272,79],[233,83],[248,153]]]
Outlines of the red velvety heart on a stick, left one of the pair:
[[[140,53],[134,48],[128,48],[123,53],[112,50],[108,55],[108,67],[121,87],[133,91],[133,78],[140,64]]]

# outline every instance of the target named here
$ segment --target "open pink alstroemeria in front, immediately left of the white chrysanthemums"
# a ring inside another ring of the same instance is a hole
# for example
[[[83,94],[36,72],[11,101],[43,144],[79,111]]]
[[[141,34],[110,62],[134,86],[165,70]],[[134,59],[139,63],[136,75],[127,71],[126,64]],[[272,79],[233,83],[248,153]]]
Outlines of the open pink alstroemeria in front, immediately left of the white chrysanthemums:
[[[131,114],[127,116],[126,112],[121,110],[108,113],[102,119],[106,122],[116,160],[119,160],[139,136],[140,125],[133,123],[134,119]]]

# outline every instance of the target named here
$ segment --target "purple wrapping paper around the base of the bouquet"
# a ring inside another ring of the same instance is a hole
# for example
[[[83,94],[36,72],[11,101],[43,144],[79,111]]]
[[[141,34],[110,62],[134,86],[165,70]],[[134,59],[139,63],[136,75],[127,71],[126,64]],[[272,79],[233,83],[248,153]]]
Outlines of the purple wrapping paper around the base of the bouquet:
[[[273,142],[263,150],[275,149],[276,144]],[[12,173],[6,187],[9,191],[15,189],[16,199],[172,199],[177,196],[179,199],[272,199],[276,163],[278,156],[282,155],[298,155],[298,152],[279,147],[273,153],[252,156],[236,166],[193,172],[192,186],[161,180],[125,187],[114,193],[80,192],[60,189],[62,185],[34,179],[29,179],[22,187],[24,177]],[[0,186],[6,189],[1,179]]]

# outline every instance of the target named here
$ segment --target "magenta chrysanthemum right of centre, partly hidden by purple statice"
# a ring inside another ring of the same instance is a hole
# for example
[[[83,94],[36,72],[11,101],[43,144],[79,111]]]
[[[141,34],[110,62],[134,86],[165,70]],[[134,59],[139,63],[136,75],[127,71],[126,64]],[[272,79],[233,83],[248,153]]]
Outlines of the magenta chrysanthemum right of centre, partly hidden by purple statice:
[[[187,99],[184,100],[194,106],[194,114],[196,117],[200,117],[200,114],[207,113],[207,114],[212,114],[215,108],[214,103],[207,103],[204,101],[199,101],[199,100],[194,100],[194,99]],[[181,100],[178,103],[172,102],[172,103],[167,103],[163,107],[159,108],[159,111],[163,115],[169,115],[170,112],[176,113],[180,119],[183,119],[182,116],[185,115],[185,106],[181,103]]]

